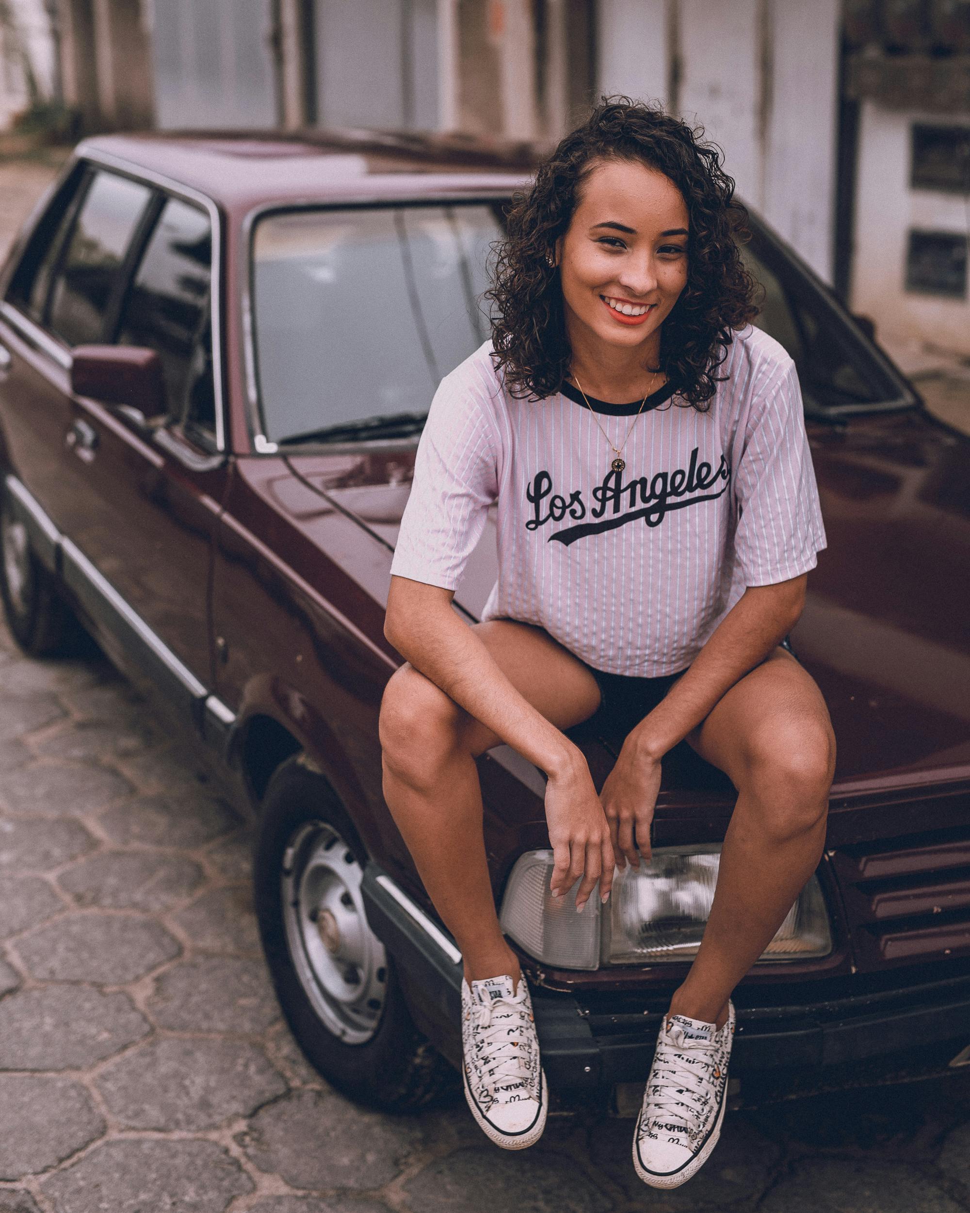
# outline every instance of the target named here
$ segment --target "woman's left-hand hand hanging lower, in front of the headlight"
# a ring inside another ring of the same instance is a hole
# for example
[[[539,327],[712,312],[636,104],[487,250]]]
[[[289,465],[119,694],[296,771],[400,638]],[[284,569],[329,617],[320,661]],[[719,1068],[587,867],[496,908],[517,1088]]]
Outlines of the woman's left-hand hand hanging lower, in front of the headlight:
[[[603,804],[582,754],[564,771],[549,775],[546,820],[554,859],[553,896],[564,896],[582,877],[576,890],[576,910],[582,910],[589,900],[597,881],[605,901],[614,883],[614,848]]]

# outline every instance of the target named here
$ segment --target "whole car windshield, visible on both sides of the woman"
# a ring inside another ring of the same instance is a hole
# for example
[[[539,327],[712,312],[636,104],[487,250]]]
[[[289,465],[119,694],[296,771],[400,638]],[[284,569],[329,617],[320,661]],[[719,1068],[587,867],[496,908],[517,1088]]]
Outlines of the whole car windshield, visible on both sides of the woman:
[[[755,324],[794,358],[805,412],[909,403],[834,298],[752,217],[742,255]],[[441,381],[489,335],[481,294],[498,204],[323,207],[268,215],[253,237],[263,427],[280,445],[421,432]]]

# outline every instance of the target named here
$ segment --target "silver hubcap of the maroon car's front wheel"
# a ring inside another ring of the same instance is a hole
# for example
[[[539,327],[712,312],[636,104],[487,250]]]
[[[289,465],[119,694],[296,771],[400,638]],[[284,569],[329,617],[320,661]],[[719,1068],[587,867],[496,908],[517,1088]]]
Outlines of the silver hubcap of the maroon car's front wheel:
[[[286,940],[307,997],[347,1044],[369,1041],[384,1006],[387,957],[367,926],[364,871],[337,831],[309,821],[283,856]]]

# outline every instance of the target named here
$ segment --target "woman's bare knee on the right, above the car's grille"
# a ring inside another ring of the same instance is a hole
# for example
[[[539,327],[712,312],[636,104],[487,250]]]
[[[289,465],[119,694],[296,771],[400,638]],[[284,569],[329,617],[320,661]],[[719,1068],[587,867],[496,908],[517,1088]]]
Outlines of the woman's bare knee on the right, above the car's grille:
[[[828,813],[835,736],[827,721],[775,722],[746,747],[743,778],[763,826],[780,838],[816,828]]]

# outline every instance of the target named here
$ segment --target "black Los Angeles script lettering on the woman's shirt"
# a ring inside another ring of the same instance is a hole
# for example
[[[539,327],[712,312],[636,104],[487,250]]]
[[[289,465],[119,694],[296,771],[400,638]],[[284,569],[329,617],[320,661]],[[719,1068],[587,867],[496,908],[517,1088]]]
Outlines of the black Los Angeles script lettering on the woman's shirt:
[[[627,523],[643,519],[647,526],[660,526],[671,509],[684,509],[687,506],[697,505],[701,501],[717,501],[726,492],[731,480],[731,467],[724,455],[717,469],[708,462],[697,462],[698,448],[690,452],[690,461],[686,468],[679,467],[673,472],[655,472],[652,477],[638,475],[623,484],[623,473],[612,468],[604,475],[600,484],[593,489],[595,502],[588,511],[590,518],[600,518],[603,522],[584,523],[577,526],[564,526],[549,535],[549,542],[575,543],[587,535],[598,535],[603,531],[615,530],[617,526],[626,526]],[[717,492],[707,492],[718,482],[724,482]],[[690,494],[690,496],[684,496]],[[574,519],[586,518],[587,508],[583,502],[581,489],[575,489],[569,499],[563,494],[553,492],[553,478],[548,472],[537,472],[532,483],[525,490],[525,495],[532,506],[532,517],[526,519],[526,530],[537,530],[547,523],[561,522],[566,514]],[[672,501],[672,497],[683,500]],[[626,503],[626,513],[620,513]],[[641,508],[637,508],[637,506]],[[614,517],[605,518],[607,509]],[[617,517],[618,516],[618,517]]]

